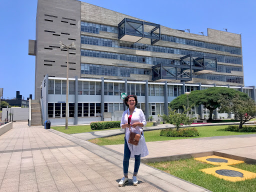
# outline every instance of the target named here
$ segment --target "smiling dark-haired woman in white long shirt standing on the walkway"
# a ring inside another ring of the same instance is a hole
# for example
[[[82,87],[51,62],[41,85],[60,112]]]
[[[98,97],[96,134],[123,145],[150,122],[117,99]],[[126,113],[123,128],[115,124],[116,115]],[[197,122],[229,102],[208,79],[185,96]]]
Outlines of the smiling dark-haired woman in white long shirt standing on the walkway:
[[[125,128],[124,139],[124,154],[123,154],[123,177],[119,181],[118,186],[123,186],[128,182],[128,166],[129,158],[135,157],[134,171],[132,176],[133,185],[137,185],[137,172],[140,164],[140,157],[148,155],[148,150],[145,143],[142,127],[146,125],[144,113],[141,109],[135,107],[137,104],[137,96],[129,95],[123,99],[123,102],[128,106],[122,114],[120,126]],[[137,145],[128,143],[130,132],[141,134]]]

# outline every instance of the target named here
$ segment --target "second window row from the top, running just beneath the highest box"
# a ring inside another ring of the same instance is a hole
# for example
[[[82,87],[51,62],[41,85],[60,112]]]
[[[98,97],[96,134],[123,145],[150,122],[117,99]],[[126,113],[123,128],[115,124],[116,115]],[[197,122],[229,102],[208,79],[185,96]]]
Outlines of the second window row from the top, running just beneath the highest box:
[[[118,45],[118,40],[84,36],[84,35],[81,35],[81,43],[99,45],[99,46],[121,47],[120,45]],[[212,56],[212,57],[217,57],[217,60],[219,62],[242,64],[241,57],[236,57],[236,56],[227,56],[227,55],[192,51],[192,50],[179,49],[179,48],[171,48],[171,47],[165,47],[165,46],[156,46],[156,45],[149,45],[149,44],[142,44],[142,43],[134,43],[135,44],[134,46],[130,46],[130,42],[126,42],[126,41],[122,41],[121,43],[122,45],[126,43],[129,45],[129,46],[122,46],[121,48],[132,48],[132,49],[142,50],[143,48],[145,49],[146,47],[146,50],[148,49],[149,51],[153,51],[153,52],[163,52],[163,53],[182,54],[182,55],[195,54],[200,56]],[[81,53],[81,55],[83,54]],[[130,60],[130,61],[133,61],[133,60]],[[136,62],[136,61],[134,60],[133,62]]]

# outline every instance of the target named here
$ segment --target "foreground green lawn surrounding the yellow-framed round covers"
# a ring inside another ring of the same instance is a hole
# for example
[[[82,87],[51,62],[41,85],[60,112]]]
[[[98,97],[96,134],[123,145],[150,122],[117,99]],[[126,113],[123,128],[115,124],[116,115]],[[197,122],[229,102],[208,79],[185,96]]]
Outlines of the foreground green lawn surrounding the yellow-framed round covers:
[[[215,165],[194,160],[193,158],[147,164],[214,192],[256,191],[256,178],[237,182],[223,180],[199,170],[214,167]],[[240,163],[230,166],[256,173],[256,165]]]

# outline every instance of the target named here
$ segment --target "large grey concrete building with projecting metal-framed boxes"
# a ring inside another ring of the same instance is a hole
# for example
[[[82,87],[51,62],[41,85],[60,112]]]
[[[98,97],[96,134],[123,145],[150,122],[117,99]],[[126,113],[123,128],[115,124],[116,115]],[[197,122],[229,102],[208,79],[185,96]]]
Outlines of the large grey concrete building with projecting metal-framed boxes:
[[[38,0],[28,54],[36,58],[35,99],[42,96],[44,118],[56,123],[64,122],[67,67],[59,41],[76,45],[68,54],[70,123],[117,119],[120,92],[139,95],[147,117],[203,87],[230,86],[255,100],[255,87],[243,87],[240,34],[210,28],[207,36],[193,34],[78,0]],[[203,115],[202,107],[194,110]]]

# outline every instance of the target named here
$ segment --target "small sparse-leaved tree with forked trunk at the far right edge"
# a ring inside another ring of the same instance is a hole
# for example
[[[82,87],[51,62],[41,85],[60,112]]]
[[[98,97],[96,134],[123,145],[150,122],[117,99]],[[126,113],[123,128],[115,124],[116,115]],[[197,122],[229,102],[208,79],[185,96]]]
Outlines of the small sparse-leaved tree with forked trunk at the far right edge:
[[[220,112],[224,111],[232,112],[238,116],[240,129],[246,121],[256,117],[256,103],[251,98],[244,99],[238,95],[232,98],[225,97],[220,104]]]

